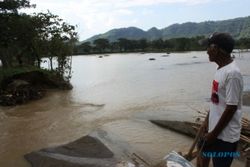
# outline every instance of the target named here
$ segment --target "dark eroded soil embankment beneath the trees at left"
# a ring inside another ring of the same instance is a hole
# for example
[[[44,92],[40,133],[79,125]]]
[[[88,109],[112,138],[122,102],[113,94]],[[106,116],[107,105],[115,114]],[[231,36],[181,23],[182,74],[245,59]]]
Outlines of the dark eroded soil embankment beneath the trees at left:
[[[0,86],[0,105],[13,106],[42,98],[47,89],[70,90],[72,85],[48,71],[33,70],[4,76]]]

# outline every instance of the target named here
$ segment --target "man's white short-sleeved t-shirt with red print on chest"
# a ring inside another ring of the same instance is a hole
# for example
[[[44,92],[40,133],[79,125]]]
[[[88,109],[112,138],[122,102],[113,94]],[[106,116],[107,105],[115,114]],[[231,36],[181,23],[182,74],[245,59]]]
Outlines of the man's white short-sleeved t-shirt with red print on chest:
[[[231,143],[240,139],[242,92],[242,75],[234,61],[216,71],[212,86],[208,131],[211,132],[215,128],[226,105],[238,106],[228,125],[217,136],[218,139]]]

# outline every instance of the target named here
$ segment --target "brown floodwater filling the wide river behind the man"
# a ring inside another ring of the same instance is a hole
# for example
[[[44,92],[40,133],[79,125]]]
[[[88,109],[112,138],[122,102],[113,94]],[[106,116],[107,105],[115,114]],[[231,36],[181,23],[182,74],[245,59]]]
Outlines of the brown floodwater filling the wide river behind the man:
[[[249,53],[236,61],[250,90]],[[171,150],[187,150],[191,139],[147,120],[193,120],[195,110],[208,108],[215,69],[205,52],[74,57],[72,91],[51,90],[41,100],[0,107],[0,166],[29,167],[23,155],[96,129],[120,136],[152,162]]]

